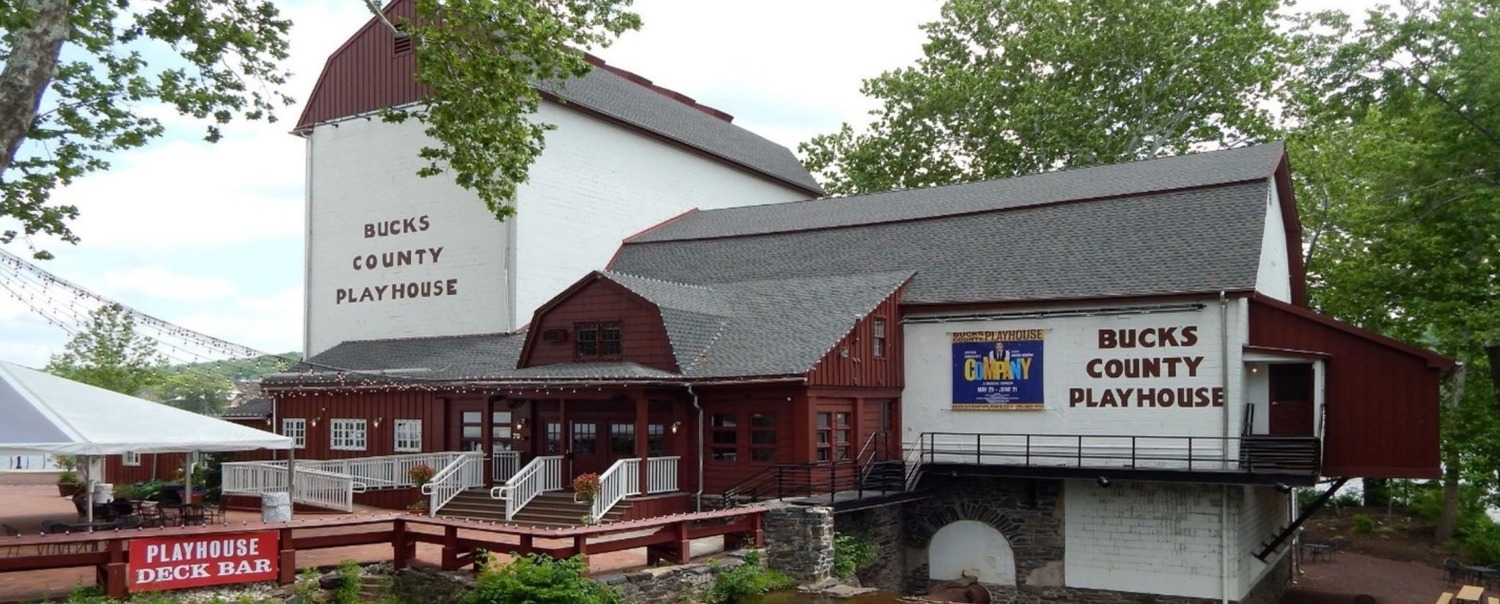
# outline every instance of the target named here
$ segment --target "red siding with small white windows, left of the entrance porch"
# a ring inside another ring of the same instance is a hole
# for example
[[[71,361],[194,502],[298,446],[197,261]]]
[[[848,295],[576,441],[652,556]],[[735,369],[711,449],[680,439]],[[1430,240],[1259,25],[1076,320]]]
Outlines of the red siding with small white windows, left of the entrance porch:
[[[308,444],[297,450],[298,459],[344,459],[393,456],[396,451],[396,420],[422,420],[422,450],[446,451],[444,403],[438,394],[426,391],[390,393],[316,393],[276,397],[276,432],[282,420],[308,420]],[[318,426],[312,420],[318,420]],[[375,420],[381,424],[376,427]],[[333,420],[366,420],[363,451],[330,448]]]

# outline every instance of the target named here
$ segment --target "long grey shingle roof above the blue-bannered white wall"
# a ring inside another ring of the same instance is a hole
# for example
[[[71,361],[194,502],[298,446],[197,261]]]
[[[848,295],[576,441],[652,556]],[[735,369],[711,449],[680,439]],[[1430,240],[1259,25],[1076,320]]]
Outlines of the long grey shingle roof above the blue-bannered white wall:
[[[1206,177],[1179,178],[1166,184],[1200,184],[1186,190],[1100,201],[1041,204],[992,199],[990,192],[1006,187],[976,183],[872,195],[868,199],[705,211],[626,243],[610,270],[710,286],[772,277],[909,270],[916,276],[903,298],[906,303],[1078,300],[1252,289],[1272,186],[1269,175],[1280,162],[1280,151],[1268,154],[1266,148],[1280,150],[1280,145],[1209,153],[1220,160],[1238,157],[1238,162],[1142,162],[1212,165],[1216,178],[1228,183],[1214,186],[1204,184],[1210,181]],[[1059,174],[1084,178],[1100,172],[1078,169]],[[1252,175],[1252,180],[1240,180]],[[1155,178],[1168,180],[1164,175]],[[1056,190],[1084,189],[1054,184]],[[1126,189],[1131,187],[1112,190]],[[1089,189],[1089,195],[1100,192],[1102,189]],[[819,210],[822,214],[810,210],[818,204],[828,204]],[[976,211],[933,210],[952,210],[963,204]],[[936,217],[872,219],[922,214],[921,208]],[[784,225],[792,214],[801,216],[795,226],[760,232],[770,229],[766,225]],[[840,220],[848,226],[808,229]],[[687,234],[717,237],[687,238]]]

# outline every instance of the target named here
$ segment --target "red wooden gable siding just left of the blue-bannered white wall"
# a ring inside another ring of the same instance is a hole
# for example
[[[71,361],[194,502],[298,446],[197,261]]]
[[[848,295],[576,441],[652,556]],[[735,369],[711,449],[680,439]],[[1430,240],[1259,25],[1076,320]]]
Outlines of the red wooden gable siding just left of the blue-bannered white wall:
[[[808,385],[886,387],[902,384],[902,286],[838,340],[807,375]],[[874,319],[885,321],[885,354],[874,355]],[[848,352],[848,354],[846,354]]]

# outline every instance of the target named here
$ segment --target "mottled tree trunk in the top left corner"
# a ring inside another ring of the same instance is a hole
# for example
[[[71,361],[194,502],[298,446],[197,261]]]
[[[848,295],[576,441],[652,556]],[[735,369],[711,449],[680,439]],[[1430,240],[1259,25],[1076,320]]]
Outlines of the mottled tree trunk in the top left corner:
[[[0,70],[0,174],[15,159],[32,121],[42,105],[42,94],[57,73],[57,55],[68,40],[69,0],[26,0],[24,10],[33,12],[26,28],[14,31],[10,55]]]

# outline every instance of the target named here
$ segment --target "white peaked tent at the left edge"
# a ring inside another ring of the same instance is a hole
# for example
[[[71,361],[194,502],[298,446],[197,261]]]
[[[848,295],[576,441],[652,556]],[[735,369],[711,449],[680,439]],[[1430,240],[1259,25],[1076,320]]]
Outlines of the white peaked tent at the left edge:
[[[0,456],[291,450],[288,436],[6,361],[0,361]],[[93,520],[92,484],[86,489]]]

